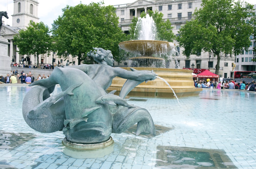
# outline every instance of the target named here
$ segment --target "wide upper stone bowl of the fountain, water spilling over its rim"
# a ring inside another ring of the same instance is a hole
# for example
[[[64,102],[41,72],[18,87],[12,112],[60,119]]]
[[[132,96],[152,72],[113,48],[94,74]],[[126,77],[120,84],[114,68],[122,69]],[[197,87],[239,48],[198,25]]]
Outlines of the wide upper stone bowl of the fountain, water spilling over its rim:
[[[130,40],[119,43],[119,47],[127,52],[152,56],[172,51],[175,44],[159,40]]]

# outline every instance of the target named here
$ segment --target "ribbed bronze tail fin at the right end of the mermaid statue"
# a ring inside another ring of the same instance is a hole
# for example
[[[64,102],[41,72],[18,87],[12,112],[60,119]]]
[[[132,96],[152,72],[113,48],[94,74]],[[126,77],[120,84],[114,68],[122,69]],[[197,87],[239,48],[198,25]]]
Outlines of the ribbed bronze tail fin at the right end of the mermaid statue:
[[[156,128],[152,119],[149,121],[138,121],[136,136],[142,132],[148,132],[156,136]]]

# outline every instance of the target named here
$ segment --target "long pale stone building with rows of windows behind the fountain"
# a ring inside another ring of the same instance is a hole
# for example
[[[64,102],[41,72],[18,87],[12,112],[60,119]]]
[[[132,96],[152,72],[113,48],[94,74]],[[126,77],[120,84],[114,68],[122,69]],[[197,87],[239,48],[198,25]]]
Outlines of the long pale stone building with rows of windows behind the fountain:
[[[170,20],[174,27],[173,33],[179,36],[178,31],[180,26],[193,18],[193,12],[196,8],[201,7],[201,3],[201,0],[137,0],[129,4],[114,5],[114,7],[116,8],[116,15],[119,17],[120,27],[125,33],[129,33],[130,23],[133,17],[140,17],[141,12],[147,12],[150,9],[152,11],[157,10],[158,12],[162,12],[164,15],[163,20]],[[212,52],[202,51],[197,55],[190,55],[190,58],[186,59],[186,56],[182,54],[184,49],[179,47],[177,41],[174,41],[174,44],[179,50],[180,56],[176,59],[179,62],[180,68],[192,69],[194,67],[199,72],[200,69],[210,69],[211,72],[215,73],[217,57]],[[233,77],[232,65],[234,60],[234,55],[221,53],[220,77]]]

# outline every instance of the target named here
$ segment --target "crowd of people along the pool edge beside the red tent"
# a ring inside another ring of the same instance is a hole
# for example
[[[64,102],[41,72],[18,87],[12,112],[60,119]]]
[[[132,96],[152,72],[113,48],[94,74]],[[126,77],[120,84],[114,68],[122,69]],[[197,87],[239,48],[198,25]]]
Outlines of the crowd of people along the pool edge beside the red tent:
[[[252,80],[252,82],[246,83],[246,81],[240,80],[240,82],[235,82],[234,80],[227,81],[215,81],[213,79],[206,80],[194,80],[194,85],[197,88],[216,88],[216,89],[240,89],[240,90],[248,90],[248,91],[256,91],[256,81]]]

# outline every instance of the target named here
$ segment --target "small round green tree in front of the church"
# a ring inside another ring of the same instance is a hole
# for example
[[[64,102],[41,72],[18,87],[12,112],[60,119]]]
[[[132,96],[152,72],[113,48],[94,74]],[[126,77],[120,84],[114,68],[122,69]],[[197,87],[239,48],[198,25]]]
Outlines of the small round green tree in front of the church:
[[[14,35],[14,44],[17,45],[19,54],[38,55],[49,54],[51,51],[52,38],[50,36],[49,27],[43,22],[30,22],[27,29],[20,30]]]

